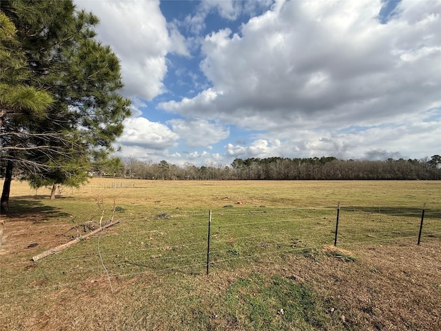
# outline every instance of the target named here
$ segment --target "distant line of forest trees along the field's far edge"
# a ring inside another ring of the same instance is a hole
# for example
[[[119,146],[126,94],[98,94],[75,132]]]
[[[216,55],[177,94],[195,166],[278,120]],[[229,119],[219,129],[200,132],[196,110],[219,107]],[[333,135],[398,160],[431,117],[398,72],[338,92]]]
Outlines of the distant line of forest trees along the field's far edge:
[[[235,159],[227,166],[201,167],[192,163],[180,167],[167,161],[152,163],[129,158],[118,169],[108,169],[108,172],[95,169],[94,174],[163,180],[439,180],[441,157],[385,161],[269,157]]]

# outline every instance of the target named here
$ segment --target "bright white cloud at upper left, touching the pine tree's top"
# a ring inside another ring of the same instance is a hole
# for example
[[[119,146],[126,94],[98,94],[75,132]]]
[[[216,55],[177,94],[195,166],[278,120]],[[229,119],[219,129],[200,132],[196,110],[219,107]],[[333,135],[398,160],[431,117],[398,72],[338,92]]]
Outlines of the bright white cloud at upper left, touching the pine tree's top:
[[[152,100],[165,91],[165,56],[176,52],[188,56],[185,39],[167,30],[159,1],[85,1],[77,7],[92,11],[101,20],[99,39],[112,46],[121,60],[124,93]]]

